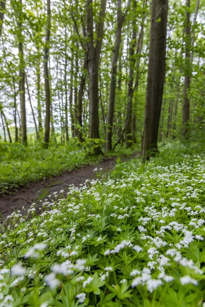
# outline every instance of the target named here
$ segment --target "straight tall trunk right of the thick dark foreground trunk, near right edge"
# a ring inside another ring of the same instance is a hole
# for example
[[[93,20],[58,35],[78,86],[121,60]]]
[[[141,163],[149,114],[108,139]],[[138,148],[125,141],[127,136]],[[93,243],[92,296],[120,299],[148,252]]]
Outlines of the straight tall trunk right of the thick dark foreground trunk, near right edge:
[[[186,2],[186,27],[185,27],[185,84],[183,87],[183,111],[182,111],[182,136],[188,136],[188,124],[190,119],[190,100],[188,92],[191,83],[191,27],[190,27],[190,0]]]

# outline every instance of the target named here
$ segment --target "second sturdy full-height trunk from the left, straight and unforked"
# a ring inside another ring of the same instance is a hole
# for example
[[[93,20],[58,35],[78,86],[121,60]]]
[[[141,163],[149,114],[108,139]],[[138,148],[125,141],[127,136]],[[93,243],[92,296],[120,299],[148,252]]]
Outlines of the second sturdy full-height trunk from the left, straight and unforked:
[[[44,134],[44,147],[48,148],[49,136],[50,136],[50,84],[49,84],[49,70],[48,70],[48,59],[49,59],[49,40],[50,40],[50,28],[51,28],[51,3],[47,0],[47,25],[46,25],[46,43],[44,50],[44,78],[45,78],[45,93],[46,93],[46,118],[45,118],[45,134]]]

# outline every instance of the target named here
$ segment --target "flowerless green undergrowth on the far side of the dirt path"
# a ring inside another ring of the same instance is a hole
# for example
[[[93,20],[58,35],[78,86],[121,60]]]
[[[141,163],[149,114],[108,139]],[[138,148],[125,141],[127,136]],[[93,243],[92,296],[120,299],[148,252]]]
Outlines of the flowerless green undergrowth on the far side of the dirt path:
[[[49,149],[40,145],[25,147],[21,144],[0,144],[0,194],[25,186],[32,181],[44,180],[86,164],[98,163],[114,155],[129,155],[132,150],[120,149],[117,154],[89,156],[79,142],[52,144]]]

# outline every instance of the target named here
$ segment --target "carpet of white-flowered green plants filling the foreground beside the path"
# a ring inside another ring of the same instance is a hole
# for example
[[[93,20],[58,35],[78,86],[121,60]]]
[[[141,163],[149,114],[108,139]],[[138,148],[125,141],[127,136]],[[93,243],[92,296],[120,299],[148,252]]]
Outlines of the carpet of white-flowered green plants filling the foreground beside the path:
[[[160,151],[8,217],[0,304],[204,306],[203,148]]]

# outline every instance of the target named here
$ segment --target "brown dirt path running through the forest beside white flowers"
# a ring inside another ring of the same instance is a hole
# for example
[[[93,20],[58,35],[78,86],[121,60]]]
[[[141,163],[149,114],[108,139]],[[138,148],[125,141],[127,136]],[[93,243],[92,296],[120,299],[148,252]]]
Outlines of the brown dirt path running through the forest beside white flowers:
[[[103,168],[104,172],[109,171],[114,168],[116,164],[116,158],[102,161],[98,164],[89,165],[74,169],[69,172],[65,172],[60,176],[52,177],[45,181],[33,182],[28,184],[27,187],[19,189],[19,191],[14,192],[9,195],[0,196],[0,222],[3,222],[5,218],[10,215],[13,211],[22,208],[28,208],[32,203],[34,203],[43,192],[44,199],[47,195],[53,192],[59,192],[60,190],[65,190],[69,185],[74,184],[79,187],[83,184],[86,179],[95,178],[95,172],[93,171],[95,167]]]

